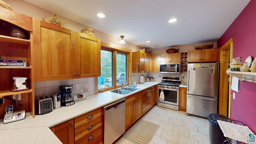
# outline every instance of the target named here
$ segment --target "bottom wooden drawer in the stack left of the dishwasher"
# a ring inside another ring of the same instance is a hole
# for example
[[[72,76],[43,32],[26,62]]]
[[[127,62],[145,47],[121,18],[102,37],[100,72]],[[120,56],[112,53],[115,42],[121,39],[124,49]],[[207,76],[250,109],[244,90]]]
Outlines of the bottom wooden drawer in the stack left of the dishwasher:
[[[76,140],[76,144],[96,144],[103,138],[102,126]]]

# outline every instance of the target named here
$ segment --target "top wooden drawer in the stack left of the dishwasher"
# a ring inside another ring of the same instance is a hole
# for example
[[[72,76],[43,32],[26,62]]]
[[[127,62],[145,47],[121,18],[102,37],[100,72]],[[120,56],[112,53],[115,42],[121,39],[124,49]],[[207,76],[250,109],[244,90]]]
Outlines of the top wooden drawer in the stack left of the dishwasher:
[[[82,116],[76,117],[75,129],[83,126],[84,124],[87,124],[88,122],[91,122],[92,120],[95,120],[96,118],[99,118],[100,116],[102,116],[102,108],[98,108],[96,110],[83,114]]]

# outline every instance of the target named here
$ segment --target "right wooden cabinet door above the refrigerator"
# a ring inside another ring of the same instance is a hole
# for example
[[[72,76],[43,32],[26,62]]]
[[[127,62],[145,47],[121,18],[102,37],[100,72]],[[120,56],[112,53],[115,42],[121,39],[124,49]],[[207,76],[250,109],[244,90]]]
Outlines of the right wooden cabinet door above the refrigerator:
[[[202,62],[218,61],[218,48],[210,48],[202,50]]]

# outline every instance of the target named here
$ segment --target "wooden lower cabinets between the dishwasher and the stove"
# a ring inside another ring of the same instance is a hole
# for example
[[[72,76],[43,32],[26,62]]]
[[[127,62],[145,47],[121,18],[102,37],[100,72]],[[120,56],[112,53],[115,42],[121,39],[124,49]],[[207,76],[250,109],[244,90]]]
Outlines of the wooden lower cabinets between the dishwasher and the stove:
[[[126,130],[155,105],[155,88],[152,86],[126,98]]]

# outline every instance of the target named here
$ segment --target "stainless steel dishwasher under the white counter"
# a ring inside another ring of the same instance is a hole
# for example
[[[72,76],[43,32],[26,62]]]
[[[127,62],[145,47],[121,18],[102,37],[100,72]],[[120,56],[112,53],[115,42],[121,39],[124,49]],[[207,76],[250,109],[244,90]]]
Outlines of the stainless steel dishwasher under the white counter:
[[[125,99],[103,107],[104,144],[112,144],[125,132]]]

